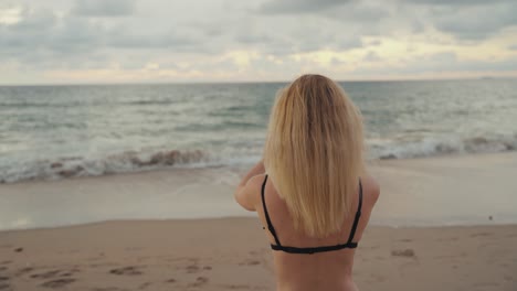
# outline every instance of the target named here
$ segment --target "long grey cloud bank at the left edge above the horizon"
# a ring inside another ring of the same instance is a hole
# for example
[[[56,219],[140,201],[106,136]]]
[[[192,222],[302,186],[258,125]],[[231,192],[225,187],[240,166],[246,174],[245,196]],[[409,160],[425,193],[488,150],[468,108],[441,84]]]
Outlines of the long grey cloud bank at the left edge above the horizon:
[[[20,21],[14,24],[0,23],[0,62],[18,61],[32,67],[46,67],[49,63],[61,66],[77,60],[103,55],[105,51],[139,54],[143,51],[161,50],[171,52],[213,53],[215,45],[207,37],[196,36],[187,30],[139,32],[129,23],[107,25],[91,18],[73,14],[59,15],[48,9],[24,8]],[[210,51],[212,50],[212,51]],[[118,56],[115,55],[115,60]]]

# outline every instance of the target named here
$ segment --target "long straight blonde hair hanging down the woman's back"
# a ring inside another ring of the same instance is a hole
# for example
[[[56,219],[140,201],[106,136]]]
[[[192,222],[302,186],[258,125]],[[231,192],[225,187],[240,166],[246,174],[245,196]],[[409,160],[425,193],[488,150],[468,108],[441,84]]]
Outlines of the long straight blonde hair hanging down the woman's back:
[[[264,165],[296,230],[339,231],[363,171],[362,118],[345,90],[304,75],[278,91],[271,112]]]

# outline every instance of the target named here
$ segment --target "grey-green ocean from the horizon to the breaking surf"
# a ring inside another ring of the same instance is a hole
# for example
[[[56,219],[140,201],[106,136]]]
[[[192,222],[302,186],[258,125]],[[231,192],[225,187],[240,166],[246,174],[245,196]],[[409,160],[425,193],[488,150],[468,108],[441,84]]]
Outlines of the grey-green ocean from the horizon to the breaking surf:
[[[252,164],[285,85],[0,87],[0,183]],[[369,160],[517,149],[515,79],[340,85]]]

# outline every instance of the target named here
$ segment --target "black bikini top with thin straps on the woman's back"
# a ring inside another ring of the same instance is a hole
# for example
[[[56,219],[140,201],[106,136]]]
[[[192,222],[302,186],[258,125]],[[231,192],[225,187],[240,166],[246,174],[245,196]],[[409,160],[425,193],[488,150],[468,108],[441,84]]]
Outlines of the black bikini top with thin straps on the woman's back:
[[[359,218],[361,217],[361,207],[362,207],[362,184],[359,180],[359,204],[357,206],[356,217],[354,219],[354,225],[350,230],[350,235],[348,236],[348,240],[346,244],[335,245],[335,246],[324,246],[324,247],[312,247],[312,248],[297,248],[297,247],[288,247],[282,246],[279,242],[278,236],[276,235],[275,228],[273,227],[273,223],[271,222],[270,214],[267,213],[267,207],[265,204],[265,184],[267,182],[267,175],[264,179],[264,183],[262,184],[262,206],[264,207],[264,215],[267,222],[267,229],[275,238],[276,245],[271,244],[271,248],[273,250],[282,250],[289,254],[315,254],[315,252],[324,252],[324,251],[331,251],[331,250],[339,250],[344,248],[357,248],[357,242],[352,242],[354,236],[356,235],[357,225],[359,224]]]

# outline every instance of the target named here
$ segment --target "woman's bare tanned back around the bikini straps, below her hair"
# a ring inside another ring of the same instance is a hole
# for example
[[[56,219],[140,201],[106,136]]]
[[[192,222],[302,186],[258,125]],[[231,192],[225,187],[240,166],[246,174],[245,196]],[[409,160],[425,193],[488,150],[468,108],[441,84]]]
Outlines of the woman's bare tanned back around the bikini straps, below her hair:
[[[267,227],[261,197],[261,187],[265,175],[256,175],[250,180],[249,186],[253,188],[254,208],[264,226],[265,234],[271,244],[275,239]],[[372,177],[362,177],[361,216],[352,241],[361,239],[368,224],[373,205],[379,197],[379,186]],[[358,185],[359,186],[359,185]],[[351,231],[356,209],[359,204],[359,187],[354,198],[352,212],[347,215],[341,230],[325,238],[308,237],[294,229],[293,219],[285,202],[278,196],[272,182],[265,184],[265,203],[272,224],[276,230],[282,246],[312,248],[321,246],[336,246],[346,244]],[[273,251],[277,290],[357,290],[352,281],[352,265],[355,248],[316,252],[316,254],[287,254]]]

